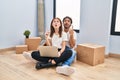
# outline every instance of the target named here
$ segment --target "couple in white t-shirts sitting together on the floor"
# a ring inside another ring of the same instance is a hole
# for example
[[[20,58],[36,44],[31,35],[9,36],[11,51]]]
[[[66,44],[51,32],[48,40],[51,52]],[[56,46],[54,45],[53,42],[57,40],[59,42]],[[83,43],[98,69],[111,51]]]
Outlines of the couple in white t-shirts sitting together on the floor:
[[[58,48],[59,57],[42,57],[40,52],[33,51],[32,53],[23,52],[23,55],[32,61],[37,61],[36,69],[42,69],[51,66],[58,66],[57,73],[71,75],[74,73],[74,68],[70,67],[76,52],[74,47],[76,44],[76,33],[71,28],[72,19],[65,17],[63,19],[64,30],[62,29],[62,21],[59,18],[53,18],[50,25],[50,32],[46,32],[46,45],[56,46]]]

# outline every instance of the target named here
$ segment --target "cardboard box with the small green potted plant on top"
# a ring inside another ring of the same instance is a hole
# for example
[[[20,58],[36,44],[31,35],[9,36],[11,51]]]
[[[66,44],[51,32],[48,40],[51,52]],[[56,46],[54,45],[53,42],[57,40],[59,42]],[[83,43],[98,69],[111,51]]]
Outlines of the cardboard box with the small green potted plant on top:
[[[28,45],[28,50],[37,50],[41,41],[40,37],[31,37],[25,39],[25,44]]]

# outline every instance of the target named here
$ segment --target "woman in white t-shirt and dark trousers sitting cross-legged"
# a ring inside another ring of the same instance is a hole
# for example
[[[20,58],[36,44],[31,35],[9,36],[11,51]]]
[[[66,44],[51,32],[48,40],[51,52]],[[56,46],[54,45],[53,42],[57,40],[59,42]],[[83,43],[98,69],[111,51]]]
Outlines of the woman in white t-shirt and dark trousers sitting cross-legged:
[[[56,46],[58,48],[59,57],[42,57],[39,51],[32,52],[31,57],[38,61],[36,69],[57,65],[72,56],[72,51],[66,46],[67,34],[63,32],[62,22],[59,18],[54,18],[51,21],[50,32],[47,32],[45,37],[47,46]],[[23,54],[25,55],[25,53]]]

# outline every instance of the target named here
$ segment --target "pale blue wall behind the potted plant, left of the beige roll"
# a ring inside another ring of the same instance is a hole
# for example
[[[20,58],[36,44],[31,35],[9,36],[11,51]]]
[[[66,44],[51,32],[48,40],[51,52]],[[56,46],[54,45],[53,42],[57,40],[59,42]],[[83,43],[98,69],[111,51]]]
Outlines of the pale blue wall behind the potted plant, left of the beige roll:
[[[37,0],[0,0],[0,49],[24,44],[23,32],[37,35]]]

